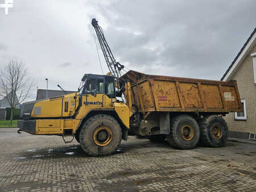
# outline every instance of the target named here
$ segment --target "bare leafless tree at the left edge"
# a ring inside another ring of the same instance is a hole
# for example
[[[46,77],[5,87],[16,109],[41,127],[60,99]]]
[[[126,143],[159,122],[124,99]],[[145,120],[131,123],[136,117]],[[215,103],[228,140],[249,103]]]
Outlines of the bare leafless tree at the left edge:
[[[13,123],[13,111],[16,106],[30,96],[34,82],[28,77],[23,61],[10,59],[0,72],[0,95],[5,97],[11,108],[10,122]]]

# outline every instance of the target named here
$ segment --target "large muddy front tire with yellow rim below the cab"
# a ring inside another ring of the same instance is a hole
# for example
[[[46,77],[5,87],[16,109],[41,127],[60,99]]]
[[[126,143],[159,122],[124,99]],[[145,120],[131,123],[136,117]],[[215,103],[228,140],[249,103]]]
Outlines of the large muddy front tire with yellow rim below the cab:
[[[86,120],[79,136],[82,149],[90,156],[114,153],[122,140],[122,130],[110,115],[95,115]]]

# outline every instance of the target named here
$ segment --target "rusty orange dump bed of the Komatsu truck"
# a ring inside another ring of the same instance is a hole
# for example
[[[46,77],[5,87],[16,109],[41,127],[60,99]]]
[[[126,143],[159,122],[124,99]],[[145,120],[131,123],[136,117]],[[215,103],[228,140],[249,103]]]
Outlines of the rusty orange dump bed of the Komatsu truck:
[[[240,112],[242,104],[236,81],[211,81],[155,76],[130,70],[120,84],[131,82],[131,99],[140,112],[196,111]],[[128,101],[127,91],[125,91]],[[129,102],[129,101],[128,101]]]

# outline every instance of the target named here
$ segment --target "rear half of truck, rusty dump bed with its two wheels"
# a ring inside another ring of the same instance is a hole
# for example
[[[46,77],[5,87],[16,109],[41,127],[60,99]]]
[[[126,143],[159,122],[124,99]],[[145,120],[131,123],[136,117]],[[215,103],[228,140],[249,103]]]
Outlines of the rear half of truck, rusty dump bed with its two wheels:
[[[191,149],[201,140],[222,147],[228,126],[222,116],[242,109],[236,81],[148,75],[130,70],[120,78],[133,115],[131,130],[151,141],[167,139],[175,148]]]

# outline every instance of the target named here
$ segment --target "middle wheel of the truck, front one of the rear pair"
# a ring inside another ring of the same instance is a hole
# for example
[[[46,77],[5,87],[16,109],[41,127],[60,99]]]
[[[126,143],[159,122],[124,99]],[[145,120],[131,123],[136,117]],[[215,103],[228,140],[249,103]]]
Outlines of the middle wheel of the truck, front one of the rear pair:
[[[189,115],[179,115],[171,119],[170,135],[167,141],[179,149],[195,148],[199,142],[200,129],[196,120]]]

